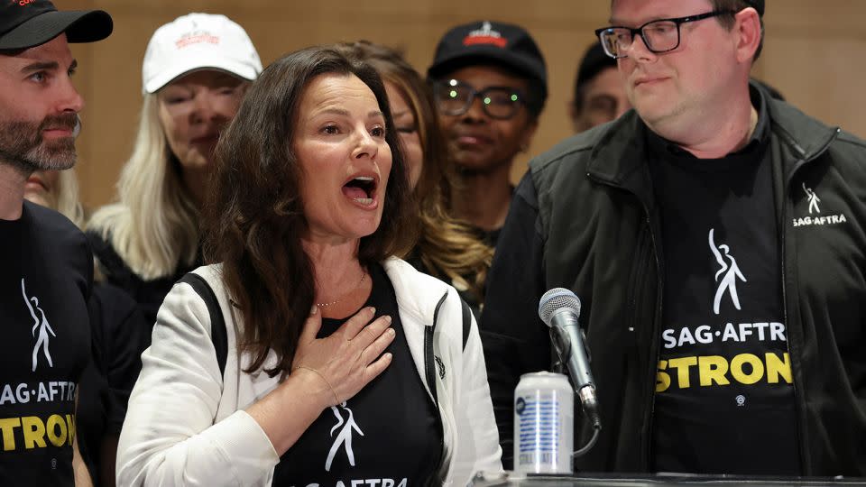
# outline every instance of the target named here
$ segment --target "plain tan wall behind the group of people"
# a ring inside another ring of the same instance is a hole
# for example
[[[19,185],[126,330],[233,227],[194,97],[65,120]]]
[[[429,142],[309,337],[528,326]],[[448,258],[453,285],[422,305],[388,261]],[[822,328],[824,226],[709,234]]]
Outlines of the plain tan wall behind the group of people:
[[[767,38],[754,76],[827,124],[866,137],[866,1],[768,0]],[[366,39],[401,47],[424,72],[436,41],[456,23],[520,23],[548,61],[548,104],[539,132],[516,162],[519,179],[533,154],[570,134],[566,104],[576,63],[608,17],[608,0],[55,0],[62,9],[104,9],[115,19],[106,41],[73,47],[77,86],[87,101],[78,141],[85,205],[114,198],[141,104],[141,64],[152,32],[189,12],[226,14],[244,26],[266,65],[311,44]],[[687,40],[686,40],[687,41]]]

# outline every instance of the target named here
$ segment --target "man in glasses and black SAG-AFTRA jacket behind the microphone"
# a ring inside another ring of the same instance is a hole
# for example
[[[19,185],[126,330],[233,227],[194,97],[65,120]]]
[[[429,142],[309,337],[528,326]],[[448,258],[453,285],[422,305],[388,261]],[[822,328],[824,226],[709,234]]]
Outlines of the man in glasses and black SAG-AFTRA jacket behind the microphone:
[[[634,111],[530,162],[488,278],[502,438],[563,287],[603,422],[578,468],[866,475],[866,143],[750,83],[763,13],[613,0],[599,41]]]

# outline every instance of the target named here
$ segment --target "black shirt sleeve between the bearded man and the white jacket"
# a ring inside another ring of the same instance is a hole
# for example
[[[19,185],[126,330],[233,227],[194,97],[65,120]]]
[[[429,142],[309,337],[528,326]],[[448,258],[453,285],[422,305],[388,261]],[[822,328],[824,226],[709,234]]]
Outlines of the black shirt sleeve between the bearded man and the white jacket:
[[[78,449],[94,485],[101,485],[102,444],[120,436],[153,324],[134,299],[106,282],[94,284],[88,308],[93,354],[78,394]]]

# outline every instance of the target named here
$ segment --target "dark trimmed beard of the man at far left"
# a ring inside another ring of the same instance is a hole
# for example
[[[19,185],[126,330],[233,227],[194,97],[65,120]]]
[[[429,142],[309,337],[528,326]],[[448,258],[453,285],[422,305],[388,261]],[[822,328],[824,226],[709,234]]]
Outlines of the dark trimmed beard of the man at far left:
[[[34,170],[68,170],[75,165],[75,137],[78,114],[47,116],[40,124],[0,122],[0,161],[13,164],[26,173]],[[45,129],[72,131],[69,137],[45,140]]]

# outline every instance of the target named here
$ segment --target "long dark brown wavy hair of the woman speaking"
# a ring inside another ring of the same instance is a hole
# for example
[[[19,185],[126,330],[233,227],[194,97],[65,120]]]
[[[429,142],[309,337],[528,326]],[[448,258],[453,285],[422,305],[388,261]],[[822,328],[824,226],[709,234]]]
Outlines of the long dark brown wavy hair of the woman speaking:
[[[309,175],[292,141],[306,87],[326,74],[354,75],[370,87],[384,114],[385,141],[392,150],[382,223],[361,239],[358,260],[362,265],[382,262],[407,252],[415,241],[417,210],[376,70],[320,46],[274,61],[253,82],[220,137],[202,221],[205,259],[222,262],[222,279],[244,317],[239,343],[253,355],[244,372],[262,367],[270,350],[279,362],[265,372],[290,372],[300,330],[313,306],[314,269],[300,238],[308,227],[300,188]]]

